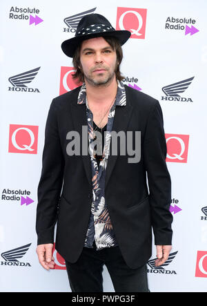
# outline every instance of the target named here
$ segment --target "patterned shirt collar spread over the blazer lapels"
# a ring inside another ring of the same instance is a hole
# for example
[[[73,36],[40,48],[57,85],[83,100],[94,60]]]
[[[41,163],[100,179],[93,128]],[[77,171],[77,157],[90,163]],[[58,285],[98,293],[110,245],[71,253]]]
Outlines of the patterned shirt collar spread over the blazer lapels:
[[[119,82],[117,80],[117,97],[115,100],[115,105],[116,106],[126,106],[126,90],[124,87],[124,84],[122,82]],[[77,104],[86,104],[88,107],[88,101],[86,99],[86,84],[83,83],[81,86],[81,90],[79,91],[78,99],[77,99]]]

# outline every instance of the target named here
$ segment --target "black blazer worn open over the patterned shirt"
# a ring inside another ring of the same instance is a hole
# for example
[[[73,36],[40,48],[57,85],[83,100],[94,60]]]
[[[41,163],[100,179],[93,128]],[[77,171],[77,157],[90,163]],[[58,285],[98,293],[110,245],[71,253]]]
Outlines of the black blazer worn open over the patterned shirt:
[[[171,245],[170,175],[166,166],[166,139],[159,102],[128,86],[126,106],[117,106],[113,131],[141,131],[141,159],[130,155],[108,157],[105,199],[115,236],[132,269],[151,256],[155,245]],[[52,100],[46,122],[43,166],[38,186],[38,245],[54,242],[69,262],[83,249],[92,200],[89,155],[66,153],[69,131],[87,126],[86,104],[77,104],[80,87]],[[146,174],[148,180],[146,180]]]

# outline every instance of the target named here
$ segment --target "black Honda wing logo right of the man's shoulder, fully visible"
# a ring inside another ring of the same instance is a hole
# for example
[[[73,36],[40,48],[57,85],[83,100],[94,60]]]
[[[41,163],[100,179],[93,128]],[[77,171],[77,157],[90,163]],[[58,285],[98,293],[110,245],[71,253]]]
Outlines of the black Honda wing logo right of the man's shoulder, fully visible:
[[[170,84],[161,88],[166,96],[162,96],[162,101],[179,101],[179,102],[193,102],[190,97],[181,97],[180,95],[183,94],[186,89],[190,86],[193,82],[194,77],[190,77],[189,79],[184,79],[180,82]]]

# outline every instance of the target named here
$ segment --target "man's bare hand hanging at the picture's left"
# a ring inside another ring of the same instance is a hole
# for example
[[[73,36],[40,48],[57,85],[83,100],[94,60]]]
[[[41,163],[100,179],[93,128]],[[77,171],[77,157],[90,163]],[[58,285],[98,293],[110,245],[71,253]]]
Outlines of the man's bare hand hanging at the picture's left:
[[[54,269],[54,258],[52,257],[52,243],[46,245],[38,245],[36,252],[39,258],[39,263],[46,270]]]

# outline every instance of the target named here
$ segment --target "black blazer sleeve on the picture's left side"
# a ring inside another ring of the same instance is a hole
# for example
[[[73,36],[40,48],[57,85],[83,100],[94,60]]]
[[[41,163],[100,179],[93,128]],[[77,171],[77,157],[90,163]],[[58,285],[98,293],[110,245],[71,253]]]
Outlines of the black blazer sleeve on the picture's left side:
[[[46,121],[41,178],[37,189],[37,245],[54,242],[63,168],[64,158],[58,133],[55,99],[53,99]]]

